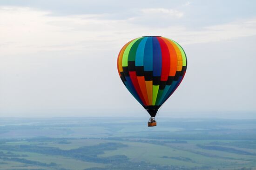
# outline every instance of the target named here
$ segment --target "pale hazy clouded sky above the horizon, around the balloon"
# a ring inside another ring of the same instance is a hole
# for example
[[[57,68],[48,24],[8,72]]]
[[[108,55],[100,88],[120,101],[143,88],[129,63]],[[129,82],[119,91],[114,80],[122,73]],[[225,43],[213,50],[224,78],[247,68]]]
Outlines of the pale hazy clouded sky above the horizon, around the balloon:
[[[0,117],[143,116],[116,60],[178,42],[186,76],[160,117],[256,118],[255,0],[0,0]]]

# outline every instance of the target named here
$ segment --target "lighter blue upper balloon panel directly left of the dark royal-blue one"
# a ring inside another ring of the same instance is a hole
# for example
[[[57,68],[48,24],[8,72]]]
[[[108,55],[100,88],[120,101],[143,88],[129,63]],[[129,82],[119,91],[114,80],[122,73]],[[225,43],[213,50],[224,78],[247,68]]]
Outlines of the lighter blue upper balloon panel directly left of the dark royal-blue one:
[[[153,44],[152,37],[148,37],[144,49],[144,71],[153,71]]]

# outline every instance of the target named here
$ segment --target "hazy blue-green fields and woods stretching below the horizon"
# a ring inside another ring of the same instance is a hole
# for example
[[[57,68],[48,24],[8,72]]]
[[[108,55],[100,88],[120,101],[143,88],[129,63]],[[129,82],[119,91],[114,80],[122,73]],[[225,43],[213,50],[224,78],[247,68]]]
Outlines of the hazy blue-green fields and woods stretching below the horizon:
[[[256,120],[1,118],[0,170],[256,170]]]

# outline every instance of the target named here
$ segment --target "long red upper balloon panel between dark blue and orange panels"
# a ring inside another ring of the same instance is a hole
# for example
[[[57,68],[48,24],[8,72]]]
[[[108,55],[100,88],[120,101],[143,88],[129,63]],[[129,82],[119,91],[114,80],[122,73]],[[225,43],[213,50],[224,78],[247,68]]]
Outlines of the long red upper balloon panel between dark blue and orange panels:
[[[170,72],[170,53],[167,44],[162,38],[157,37],[162,51],[162,74],[161,81],[167,81]]]

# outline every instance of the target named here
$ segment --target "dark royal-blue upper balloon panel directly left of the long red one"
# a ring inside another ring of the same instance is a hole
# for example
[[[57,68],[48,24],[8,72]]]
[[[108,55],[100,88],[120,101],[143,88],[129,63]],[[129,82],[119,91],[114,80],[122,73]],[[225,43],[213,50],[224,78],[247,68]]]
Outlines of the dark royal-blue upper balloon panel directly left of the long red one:
[[[153,37],[153,76],[161,76],[162,72],[162,51],[160,43]]]

